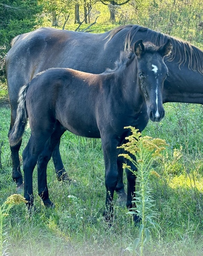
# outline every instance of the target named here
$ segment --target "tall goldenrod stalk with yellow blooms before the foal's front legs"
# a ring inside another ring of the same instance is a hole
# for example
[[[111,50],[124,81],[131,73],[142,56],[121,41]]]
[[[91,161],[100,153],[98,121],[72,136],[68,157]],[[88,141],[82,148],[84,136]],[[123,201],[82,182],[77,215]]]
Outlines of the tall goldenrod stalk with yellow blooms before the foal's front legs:
[[[139,237],[135,239],[133,246],[128,247],[127,249],[142,256],[144,243],[145,241],[149,241],[150,238],[150,228],[155,227],[156,224],[153,220],[156,213],[151,209],[154,206],[154,200],[150,195],[151,189],[148,179],[150,174],[156,175],[157,177],[160,177],[160,175],[155,171],[150,172],[150,169],[154,159],[160,157],[160,152],[164,150],[165,146],[168,144],[165,140],[159,138],[153,139],[149,136],[141,137],[138,130],[131,126],[125,128],[130,128],[132,134],[129,137],[126,137],[128,142],[119,147],[123,148],[127,154],[120,154],[119,156],[123,156],[130,160],[131,163],[137,167],[138,170],[135,173],[127,164],[123,165],[123,168],[128,168],[134,175],[136,175],[136,181],[139,183],[139,186],[137,186],[138,191],[135,191],[136,196],[133,198],[133,203],[136,203],[136,207],[133,207],[129,213],[134,213],[141,218]],[[128,153],[134,155],[136,161],[133,160]],[[139,244],[138,251],[137,248]]]

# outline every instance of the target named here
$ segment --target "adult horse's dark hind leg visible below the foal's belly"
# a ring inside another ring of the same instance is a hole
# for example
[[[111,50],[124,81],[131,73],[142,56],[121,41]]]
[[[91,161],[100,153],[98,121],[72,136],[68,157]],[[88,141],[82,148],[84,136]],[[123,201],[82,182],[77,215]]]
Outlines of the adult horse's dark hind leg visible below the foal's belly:
[[[56,172],[58,180],[70,181],[70,178],[68,177],[68,173],[66,172],[66,170],[64,168],[64,164],[61,159],[59,146],[60,146],[60,140],[58,141],[58,143],[56,144],[56,146],[52,152],[52,159],[54,162],[55,172]]]

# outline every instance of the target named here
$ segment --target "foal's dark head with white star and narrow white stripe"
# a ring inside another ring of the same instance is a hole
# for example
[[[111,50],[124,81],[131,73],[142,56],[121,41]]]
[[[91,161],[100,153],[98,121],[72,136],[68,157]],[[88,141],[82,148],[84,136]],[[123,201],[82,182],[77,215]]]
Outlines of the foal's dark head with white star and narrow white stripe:
[[[168,39],[161,47],[142,39],[136,41],[134,51],[137,57],[138,83],[144,96],[147,113],[153,122],[159,122],[164,117],[162,105],[163,84],[168,75],[163,58],[171,52],[172,44]]]

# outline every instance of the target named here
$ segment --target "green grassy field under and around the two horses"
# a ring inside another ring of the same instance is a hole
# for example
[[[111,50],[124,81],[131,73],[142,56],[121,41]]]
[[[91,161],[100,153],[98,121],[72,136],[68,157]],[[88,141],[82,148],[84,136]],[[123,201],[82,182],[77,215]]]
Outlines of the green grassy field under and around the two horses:
[[[5,88],[0,90],[0,205],[16,193],[7,139],[10,110]],[[203,255],[203,107],[165,104],[160,123],[149,122],[144,135],[165,139],[169,144],[163,158],[153,164],[151,189],[158,212],[158,230],[151,230],[146,256]],[[20,151],[29,139],[23,136]],[[66,132],[61,140],[65,168],[75,183],[58,182],[52,160],[47,178],[55,209],[45,209],[37,195],[36,212],[25,205],[14,206],[3,221],[3,255],[15,256],[130,256],[126,248],[138,236],[128,209],[119,206],[115,195],[115,219],[108,228],[104,209],[104,161],[101,142],[85,140]],[[126,178],[125,178],[126,183]],[[2,208],[3,209],[3,206]]]

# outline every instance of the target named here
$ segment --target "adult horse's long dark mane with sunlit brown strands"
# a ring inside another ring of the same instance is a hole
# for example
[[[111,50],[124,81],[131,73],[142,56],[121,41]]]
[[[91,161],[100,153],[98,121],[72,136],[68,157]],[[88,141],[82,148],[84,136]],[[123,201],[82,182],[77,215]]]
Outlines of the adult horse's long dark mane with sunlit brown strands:
[[[171,54],[168,56],[168,61],[173,61],[175,56],[179,56],[179,67],[181,64],[185,64],[186,61],[188,61],[189,69],[193,71],[198,71],[203,75],[203,51],[201,51],[194,45],[139,25],[119,26],[118,28],[111,30],[110,34],[107,36],[108,41],[110,41],[114,35],[122,31],[123,29],[126,29],[125,49],[130,48],[133,38],[136,36],[136,33],[138,31],[146,32],[146,41],[151,41],[153,44],[159,46],[165,44],[168,38],[170,38],[173,49],[171,51]]]

